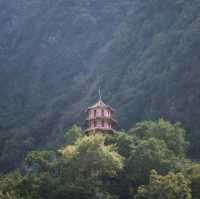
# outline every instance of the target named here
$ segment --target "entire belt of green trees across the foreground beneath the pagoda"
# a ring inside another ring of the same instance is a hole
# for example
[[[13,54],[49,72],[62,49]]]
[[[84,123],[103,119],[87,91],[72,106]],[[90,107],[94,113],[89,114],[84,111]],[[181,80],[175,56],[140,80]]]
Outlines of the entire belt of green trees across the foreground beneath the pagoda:
[[[1,199],[199,199],[200,164],[186,131],[164,119],[128,132],[85,135],[74,125],[58,150],[30,152],[0,176]]]

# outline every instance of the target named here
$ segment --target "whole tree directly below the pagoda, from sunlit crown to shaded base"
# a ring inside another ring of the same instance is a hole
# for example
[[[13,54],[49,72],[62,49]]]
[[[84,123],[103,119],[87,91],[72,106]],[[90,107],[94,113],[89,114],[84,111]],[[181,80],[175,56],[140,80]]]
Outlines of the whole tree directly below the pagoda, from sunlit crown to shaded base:
[[[114,197],[109,189],[110,181],[117,178],[123,169],[124,158],[115,145],[105,145],[105,140],[103,135],[85,136],[61,151],[69,162],[67,178],[71,176],[73,186],[82,187],[94,198],[97,195]]]

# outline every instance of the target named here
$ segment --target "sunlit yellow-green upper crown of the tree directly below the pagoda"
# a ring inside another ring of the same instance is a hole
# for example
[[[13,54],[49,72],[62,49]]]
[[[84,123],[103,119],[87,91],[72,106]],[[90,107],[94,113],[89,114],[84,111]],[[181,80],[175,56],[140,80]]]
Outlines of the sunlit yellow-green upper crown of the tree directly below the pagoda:
[[[71,157],[76,172],[86,176],[114,177],[123,168],[123,157],[114,145],[105,145],[102,135],[86,136],[77,140],[75,146],[63,149],[63,155]]]

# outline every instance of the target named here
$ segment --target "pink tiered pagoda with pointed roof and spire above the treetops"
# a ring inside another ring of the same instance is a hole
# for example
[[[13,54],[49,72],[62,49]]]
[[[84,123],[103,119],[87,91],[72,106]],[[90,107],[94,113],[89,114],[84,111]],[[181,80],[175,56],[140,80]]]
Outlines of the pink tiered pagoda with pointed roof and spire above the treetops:
[[[99,94],[99,101],[86,110],[86,134],[91,133],[114,133],[117,121],[114,119],[114,109],[106,105]]]

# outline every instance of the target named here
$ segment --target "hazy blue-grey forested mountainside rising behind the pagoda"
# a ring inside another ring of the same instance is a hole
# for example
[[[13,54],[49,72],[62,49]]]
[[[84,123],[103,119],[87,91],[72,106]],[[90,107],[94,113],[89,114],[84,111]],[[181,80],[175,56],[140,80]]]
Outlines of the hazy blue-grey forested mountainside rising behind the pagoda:
[[[181,121],[200,158],[199,0],[1,0],[0,168],[53,148],[103,99],[121,129]]]

